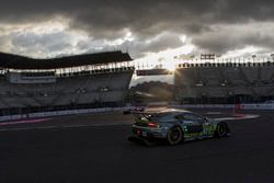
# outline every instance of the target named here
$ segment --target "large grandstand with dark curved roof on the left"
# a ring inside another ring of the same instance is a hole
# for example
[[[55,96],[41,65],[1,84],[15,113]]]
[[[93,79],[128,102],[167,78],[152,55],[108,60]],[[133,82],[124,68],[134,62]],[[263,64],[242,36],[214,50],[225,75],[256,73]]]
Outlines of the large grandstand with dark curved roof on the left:
[[[0,53],[0,115],[124,105],[134,70],[122,52],[50,59]]]

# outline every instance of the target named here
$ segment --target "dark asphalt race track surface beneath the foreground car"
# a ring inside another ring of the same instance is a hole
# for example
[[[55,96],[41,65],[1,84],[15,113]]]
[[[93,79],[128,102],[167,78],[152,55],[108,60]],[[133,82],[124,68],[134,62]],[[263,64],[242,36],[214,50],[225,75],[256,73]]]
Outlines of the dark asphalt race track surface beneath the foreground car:
[[[0,183],[273,182],[274,113],[247,113],[229,138],[174,147],[127,141],[133,117],[115,113],[2,125]]]

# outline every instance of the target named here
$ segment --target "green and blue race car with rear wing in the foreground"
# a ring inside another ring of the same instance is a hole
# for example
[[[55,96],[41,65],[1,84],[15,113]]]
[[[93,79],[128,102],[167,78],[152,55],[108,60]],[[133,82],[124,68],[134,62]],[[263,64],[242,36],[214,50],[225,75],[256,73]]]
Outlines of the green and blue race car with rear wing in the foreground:
[[[230,135],[227,123],[204,117],[190,111],[165,110],[155,113],[135,112],[129,141],[164,140],[169,145]]]

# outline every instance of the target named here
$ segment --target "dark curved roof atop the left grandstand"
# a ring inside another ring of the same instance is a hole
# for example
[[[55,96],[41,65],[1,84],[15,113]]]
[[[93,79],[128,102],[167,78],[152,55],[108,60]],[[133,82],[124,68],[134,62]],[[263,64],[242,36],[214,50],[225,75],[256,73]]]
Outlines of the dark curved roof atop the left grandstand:
[[[0,53],[0,68],[20,70],[60,69],[130,60],[133,60],[132,57],[127,53],[122,52],[83,54],[46,59],[36,59],[13,54]]]

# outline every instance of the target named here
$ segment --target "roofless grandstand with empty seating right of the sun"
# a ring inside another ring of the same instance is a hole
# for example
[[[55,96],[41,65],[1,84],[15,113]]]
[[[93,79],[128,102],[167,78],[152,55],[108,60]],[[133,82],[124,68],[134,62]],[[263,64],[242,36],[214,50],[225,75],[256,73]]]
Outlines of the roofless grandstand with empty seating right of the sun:
[[[274,99],[274,62],[216,60],[179,64],[175,100],[181,103],[252,103]]]

